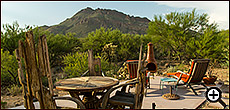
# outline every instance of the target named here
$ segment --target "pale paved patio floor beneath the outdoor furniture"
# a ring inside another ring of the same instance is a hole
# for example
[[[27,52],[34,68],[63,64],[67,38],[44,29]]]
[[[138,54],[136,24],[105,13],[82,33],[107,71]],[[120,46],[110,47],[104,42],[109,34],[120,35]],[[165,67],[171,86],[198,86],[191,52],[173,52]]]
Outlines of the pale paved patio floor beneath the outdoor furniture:
[[[152,103],[156,104],[156,109],[196,109],[201,105],[206,98],[204,97],[205,89],[202,86],[194,86],[194,89],[197,90],[198,96],[195,96],[192,91],[186,89],[184,86],[179,87],[177,94],[180,96],[179,100],[166,100],[162,98],[162,90],[159,89],[160,76],[155,76],[154,79],[150,78],[150,89],[147,90],[146,97],[144,97],[142,109],[152,109]],[[217,85],[220,87],[220,85]],[[132,91],[132,90],[131,90]],[[169,93],[169,88],[163,88],[163,94]],[[69,95],[67,95],[69,96]],[[223,101],[229,105],[229,99],[222,98]],[[39,108],[39,103],[34,102],[35,108]],[[58,101],[57,104],[65,106],[73,106],[73,103],[68,101]],[[210,105],[223,108],[220,103],[211,103]],[[23,105],[10,108],[10,109],[25,109]]]

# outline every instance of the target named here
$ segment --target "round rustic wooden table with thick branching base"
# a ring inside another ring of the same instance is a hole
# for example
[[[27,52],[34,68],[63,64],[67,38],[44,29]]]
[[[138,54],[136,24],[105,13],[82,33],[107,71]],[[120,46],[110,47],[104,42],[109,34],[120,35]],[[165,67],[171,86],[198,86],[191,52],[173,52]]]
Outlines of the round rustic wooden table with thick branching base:
[[[79,95],[83,95],[81,100],[85,104],[86,108],[99,108],[105,93],[105,89],[110,89],[114,85],[119,83],[118,79],[112,77],[103,76],[87,76],[87,77],[76,77],[58,81],[55,83],[57,90],[68,91],[72,97],[79,100]],[[99,99],[97,93],[102,93]]]

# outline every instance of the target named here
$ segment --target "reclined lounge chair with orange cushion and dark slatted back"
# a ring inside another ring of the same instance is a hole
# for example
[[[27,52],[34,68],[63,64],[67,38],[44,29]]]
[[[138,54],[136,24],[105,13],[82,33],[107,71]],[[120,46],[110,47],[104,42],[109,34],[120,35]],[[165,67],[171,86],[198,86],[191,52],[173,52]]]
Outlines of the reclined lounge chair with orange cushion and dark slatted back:
[[[189,86],[195,95],[198,95],[191,85],[203,85],[206,89],[207,86],[201,82],[208,68],[210,59],[193,59],[191,69],[188,73],[177,71],[175,73],[167,73],[167,76],[173,76],[178,79],[175,87],[186,85]],[[179,83],[182,81],[182,83]]]

